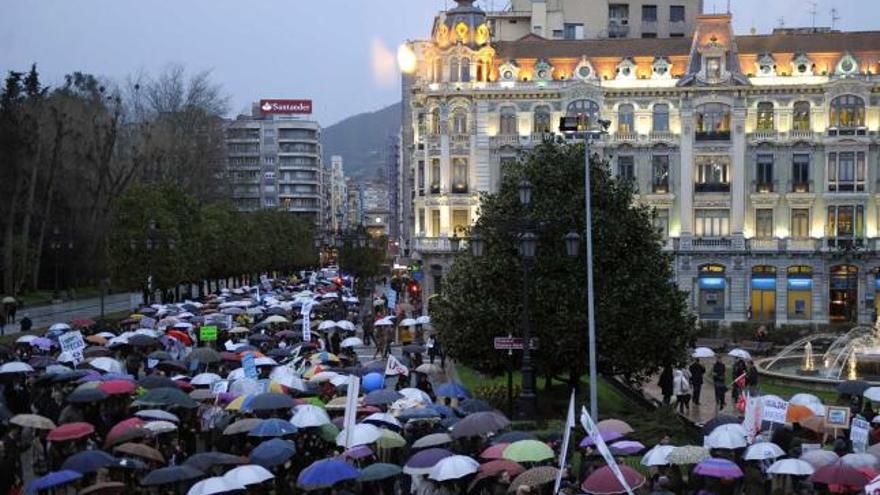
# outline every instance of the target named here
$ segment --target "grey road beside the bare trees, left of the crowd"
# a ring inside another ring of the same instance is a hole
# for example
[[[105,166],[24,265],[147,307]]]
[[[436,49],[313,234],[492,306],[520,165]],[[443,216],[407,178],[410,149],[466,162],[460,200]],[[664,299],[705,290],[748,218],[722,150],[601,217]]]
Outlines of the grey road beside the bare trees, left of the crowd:
[[[139,292],[125,292],[112,294],[104,298],[104,314],[129,311],[138,306],[142,301]],[[28,316],[34,322],[34,328],[43,328],[59,322],[70,322],[77,318],[96,318],[101,315],[100,298],[79,299],[59,304],[47,304],[24,308],[16,314],[15,325],[6,325],[6,334],[19,332],[18,322],[22,317]]]

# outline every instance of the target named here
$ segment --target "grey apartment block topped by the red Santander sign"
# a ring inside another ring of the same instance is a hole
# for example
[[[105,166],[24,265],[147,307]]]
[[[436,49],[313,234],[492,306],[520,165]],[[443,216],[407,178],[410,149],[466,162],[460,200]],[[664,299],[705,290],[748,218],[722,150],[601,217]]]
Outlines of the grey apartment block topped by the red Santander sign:
[[[232,200],[242,211],[279,208],[323,222],[321,126],[292,115],[251,115],[226,125],[226,163]]]

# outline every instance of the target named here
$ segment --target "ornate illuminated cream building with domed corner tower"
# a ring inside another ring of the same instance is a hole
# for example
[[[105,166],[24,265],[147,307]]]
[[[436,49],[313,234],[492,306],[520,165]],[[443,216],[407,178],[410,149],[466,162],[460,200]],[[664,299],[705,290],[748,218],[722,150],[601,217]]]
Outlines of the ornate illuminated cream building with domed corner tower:
[[[655,209],[702,319],[873,321],[880,32],[735,36],[729,15],[702,15],[686,38],[492,41],[487,19],[459,1],[412,44],[404,148],[426,299],[478,192],[570,116],[611,121],[595,146]]]

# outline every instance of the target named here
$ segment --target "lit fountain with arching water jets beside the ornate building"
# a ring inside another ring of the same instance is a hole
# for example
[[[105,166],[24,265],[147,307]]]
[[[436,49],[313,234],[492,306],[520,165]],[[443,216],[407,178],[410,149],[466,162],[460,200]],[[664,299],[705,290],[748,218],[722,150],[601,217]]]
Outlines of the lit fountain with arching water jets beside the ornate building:
[[[765,377],[807,387],[857,379],[880,385],[880,318],[873,327],[858,326],[843,335],[804,337],[756,364]]]

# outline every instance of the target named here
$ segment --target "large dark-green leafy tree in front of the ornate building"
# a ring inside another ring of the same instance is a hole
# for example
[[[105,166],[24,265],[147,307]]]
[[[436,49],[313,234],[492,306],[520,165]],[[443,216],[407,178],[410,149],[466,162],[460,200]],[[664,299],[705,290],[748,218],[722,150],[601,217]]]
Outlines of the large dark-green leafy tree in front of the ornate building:
[[[583,155],[582,145],[545,143],[503,171],[497,193],[483,196],[471,234],[484,238],[485,255],[458,255],[431,306],[451,356],[484,372],[505,368],[506,354],[492,350],[493,338],[521,335],[517,236],[528,222],[538,236],[527,289],[538,372],[576,377],[587,370],[586,247],[581,242],[570,258],[563,240],[584,232]],[[590,173],[600,371],[644,379],[686,356],[695,320],[672,280],[653,211],[634,204],[631,185],[614,179],[607,163],[594,158]],[[528,208],[518,200],[523,179],[533,185]]]

